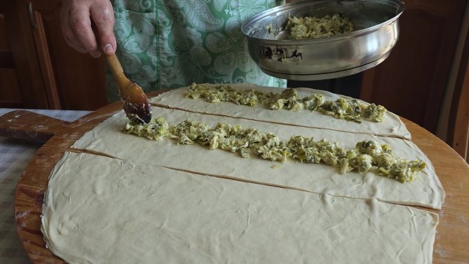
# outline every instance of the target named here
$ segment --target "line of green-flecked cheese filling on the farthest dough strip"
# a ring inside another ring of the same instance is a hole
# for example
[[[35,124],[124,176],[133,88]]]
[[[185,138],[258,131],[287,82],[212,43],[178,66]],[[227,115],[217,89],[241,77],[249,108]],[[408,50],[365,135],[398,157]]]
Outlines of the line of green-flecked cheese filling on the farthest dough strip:
[[[237,89],[230,85],[205,86],[202,84],[191,84],[186,92],[186,97],[192,99],[202,98],[210,103],[231,101],[234,104],[245,106],[263,104],[272,110],[317,110],[324,115],[357,123],[361,123],[363,119],[382,122],[386,113],[384,106],[377,106],[376,104],[367,106],[357,99],[347,100],[341,98],[336,101],[330,101],[320,94],[300,98],[293,88],[276,94]]]

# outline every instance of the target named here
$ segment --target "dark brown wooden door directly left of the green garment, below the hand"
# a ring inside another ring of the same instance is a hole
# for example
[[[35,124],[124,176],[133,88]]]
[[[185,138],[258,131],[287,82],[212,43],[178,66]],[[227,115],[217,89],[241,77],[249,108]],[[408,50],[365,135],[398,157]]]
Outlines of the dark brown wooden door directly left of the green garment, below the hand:
[[[96,110],[107,104],[104,58],[71,49],[60,28],[60,0],[16,0],[27,8],[49,108]]]

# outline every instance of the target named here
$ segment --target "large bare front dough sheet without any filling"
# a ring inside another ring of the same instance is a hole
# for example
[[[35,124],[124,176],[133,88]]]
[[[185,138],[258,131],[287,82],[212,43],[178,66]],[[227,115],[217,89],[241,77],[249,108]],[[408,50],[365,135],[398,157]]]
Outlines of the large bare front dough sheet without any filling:
[[[435,213],[67,152],[41,230],[68,263],[431,263]]]

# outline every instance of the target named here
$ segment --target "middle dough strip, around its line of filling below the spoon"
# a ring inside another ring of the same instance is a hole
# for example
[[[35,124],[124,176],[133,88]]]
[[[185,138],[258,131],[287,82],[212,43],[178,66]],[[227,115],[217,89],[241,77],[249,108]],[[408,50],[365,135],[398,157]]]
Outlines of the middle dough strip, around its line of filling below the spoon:
[[[389,144],[397,156],[409,160],[424,160],[427,167],[418,174],[416,180],[402,184],[397,180],[374,173],[360,174],[350,171],[343,175],[335,167],[296,163],[291,159],[286,163],[278,163],[258,158],[241,158],[239,154],[221,149],[210,150],[200,145],[178,145],[171,139],[156,142],[123,134],[121,128],[128,120],[123,112],[119,112],[84,134],[73,147],[138,163],[261,182],[314,193],[361,199],[376,198],[394,204],[413,204],[431,208],[441,208],[444,200],[444,190],[430,160],[416,145],[404,139],[302,128],[216,115],[200,115],[158,107],[153,107],[153,116],[164,117],[170,125],[176,125],[184,120],[202,121],[211,126],[219,122],[239,124],[243,128],[257,128],[272,132],[284,141],[288,141],[291,136],[301,135],[314,137],[316,140],[335,141],[346,148],[353,148],[359,141],[372,139],[381,144]],[[280,165],[280,167],[273,169],[273,165]]]

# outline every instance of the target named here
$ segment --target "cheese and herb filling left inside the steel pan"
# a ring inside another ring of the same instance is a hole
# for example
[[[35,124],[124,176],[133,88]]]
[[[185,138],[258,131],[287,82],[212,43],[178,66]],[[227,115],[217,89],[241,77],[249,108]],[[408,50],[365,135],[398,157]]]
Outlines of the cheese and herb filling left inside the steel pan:
[[[348,17],[341,14],[326,15],[322,18],[293,16],[289,17],[286,29],[290,30],[289,38],[299,40],[349,33],[355,30],[355,25]]]

